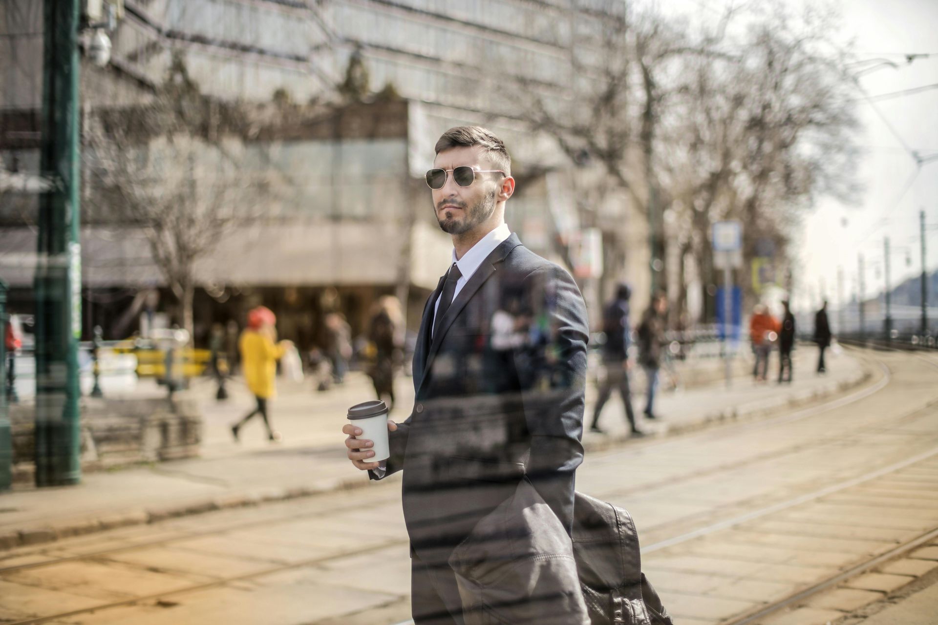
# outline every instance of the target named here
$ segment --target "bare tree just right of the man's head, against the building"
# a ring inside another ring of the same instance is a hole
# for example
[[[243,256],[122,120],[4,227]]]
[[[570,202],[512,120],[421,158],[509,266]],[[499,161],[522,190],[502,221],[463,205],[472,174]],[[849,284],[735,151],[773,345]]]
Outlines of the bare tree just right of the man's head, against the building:
[[[591,7],[574,15],[567,93],[521,78],[513,96],[522,118],[552,136],[573,163],[606,172],[654,233],[652,257],[664,260],[662,216],[671,199],[664,180],[671,163],[662,155],[672,138],[662,137],[661,127],[680,95],[674,76],[685,58],[730,56],[717,44],[737,10],[727,8],[712,32],[692,37],[685,22],[666,19],[654,8],[613,0]],[[624,229],[610,229],[607,239],[613,258],[621,257]]]

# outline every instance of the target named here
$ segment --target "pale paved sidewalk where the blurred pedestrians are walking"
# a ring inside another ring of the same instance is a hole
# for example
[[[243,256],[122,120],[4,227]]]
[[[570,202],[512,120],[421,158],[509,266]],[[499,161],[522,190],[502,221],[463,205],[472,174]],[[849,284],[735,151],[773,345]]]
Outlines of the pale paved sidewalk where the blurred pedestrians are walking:
[[[814,350],[796,353],[795,372],[807,371]],[[774,364],[774,363],[773,363]],[[717,364],[719,365],[719,364]],[[825,377],[801,376],[791,385],[755,384],[745,376],[725,383],[660,395],[662,419],[643,424],[652,433],[667,434],[729,417],[745,418],[765,410],[785,409],[856,386],[866,379],[869,365],[849,354],[832,357]],[[745,370],[741,362],[740,370]],[[642,376],[641,372],[633,378]],[[638,380],[636,380],[638,381]],[[636,386],[641,386],[636,384]],[[413,405],[413,382],[398,380],[399,408],[392,419],[402,420]],[[87,473],[78,486],[18,487],[0,495],[0,550],[45,543],[70,535],[136,525],[171,516],[250,505],[263,500],[290,499],[343,487],[367,484],[345,458],[340,432],[348,406],[371,399],[369,380],[361,374],[325,393],[310,383],[280,383],[272,403],[272,421],[283,434],[281,443],[265,439],[260,419],[241,431],[235,443],[230,424],[251,408],[243,384],[234,381],[231,398],[214,400],[215,386],[198,381],[192,389],[204,405],[204,446],[201,458],[113,471]],[[596,389],[587,390],[586,420],[592,416]],[[643,398],[635,398],[641,413]],[[600,424],[609,435],[587,433],[586,448],[605,447],[625,437],[622,404],[607,404]]]

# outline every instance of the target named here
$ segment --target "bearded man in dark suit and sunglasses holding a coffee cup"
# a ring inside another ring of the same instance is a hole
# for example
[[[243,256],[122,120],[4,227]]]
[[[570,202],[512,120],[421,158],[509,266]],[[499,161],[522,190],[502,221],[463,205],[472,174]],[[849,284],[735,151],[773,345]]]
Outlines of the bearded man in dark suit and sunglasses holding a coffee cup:
[[[424,306],[414,408],[402,424],[388,423],[384,462],[369,462],[360,429],[342,432],[349,459],[372,480],[403,470],[415,622],[462,625],[448,558],[522,480],[572,530],[589,334],[573,278],[508,230],[515,180],[501,140],[478,126],[447,130],[427,184],[453,256]],[[526,321],[510,357],[499,341],[492,346],[492,318],[506,309]]]

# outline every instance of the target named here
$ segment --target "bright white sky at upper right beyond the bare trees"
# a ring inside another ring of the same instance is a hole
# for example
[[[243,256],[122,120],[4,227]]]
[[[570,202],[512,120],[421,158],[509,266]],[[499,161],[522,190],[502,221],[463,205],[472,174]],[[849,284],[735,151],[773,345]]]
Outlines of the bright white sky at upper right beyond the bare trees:
[[[781,0],[802,7],[812,0]],[[688,12],[712,19],[720,0],[646,0],[670,12]],[[738,0],[735,4],[739,4]],[[865,74],[860,84],[870,96],[879,96],[938,83],[938,2],[936,0],[843,0],[844,28],[840,38],[855,40],[857,60],[884,58],[899,65]],[[904,55],[930,53],[911,64]],[[858,68],[861,66],[857,66]],[[865,66],[862,66],[865,67]],[[857,91],[857,97],[861,97]],[[844,294],[856,290],[857,254],[866,264],[869,298],[883,290],[884,237],[892,247],[892,286],[921,272],[918,212],[938,227],[938,159],[922,166],[913,182],[915,160],[902,142],[922,156],[938,154],[938,89],[876,103],[886,121],[867,102],[857,108],[864,126],[857,139],[864,148],[857,178],[866,186],[855,206],[822,199],[795,235],[793,303],[796,308],[818,303],[822,290],[838,304],[837,275],[843,268]],[[890,130],[891,125],[895,133]],[[898,135],[898,136],[897,136]],[[908,189],[902,193],[903,187]],[[901,199],[900,199],[901,194]],[[926,231],[930,248],[929,271],[938,268],[938,229]]]

